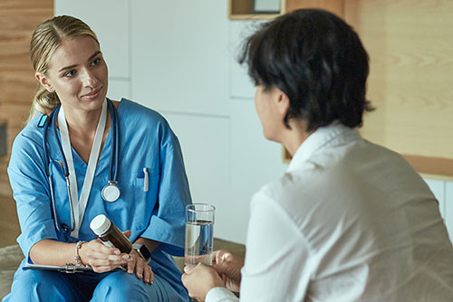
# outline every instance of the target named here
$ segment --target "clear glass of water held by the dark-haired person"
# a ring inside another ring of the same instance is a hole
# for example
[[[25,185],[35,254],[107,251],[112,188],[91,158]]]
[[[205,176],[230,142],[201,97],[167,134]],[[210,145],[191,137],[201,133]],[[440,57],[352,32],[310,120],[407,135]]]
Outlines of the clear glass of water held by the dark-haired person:
[[[188,267],[194,267],[198,263],[212,264],[215,210],[213,205],[207,203],[193,203],[186,206],[184,264]]]

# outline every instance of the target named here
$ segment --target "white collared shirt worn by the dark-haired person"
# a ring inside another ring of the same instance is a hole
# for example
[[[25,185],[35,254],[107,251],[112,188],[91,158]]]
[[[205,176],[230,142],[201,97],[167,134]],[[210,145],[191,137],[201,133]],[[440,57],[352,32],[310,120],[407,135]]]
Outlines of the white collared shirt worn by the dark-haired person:
[[[338,123],[255,193],[246,248],[243,302],[453,301],[453,249],[427,184]],[[237,298],[213,288],[206,301]]]

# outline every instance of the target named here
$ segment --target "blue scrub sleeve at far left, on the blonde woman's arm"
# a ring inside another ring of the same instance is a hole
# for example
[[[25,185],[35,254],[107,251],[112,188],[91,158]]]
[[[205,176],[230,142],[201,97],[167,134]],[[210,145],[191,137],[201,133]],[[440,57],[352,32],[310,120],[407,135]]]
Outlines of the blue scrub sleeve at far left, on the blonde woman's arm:
[[[57,240],[42,147],[20,134],[14,141],[8,176],[17,207],[21,234],[17,238],[25,256],[38,241]]]

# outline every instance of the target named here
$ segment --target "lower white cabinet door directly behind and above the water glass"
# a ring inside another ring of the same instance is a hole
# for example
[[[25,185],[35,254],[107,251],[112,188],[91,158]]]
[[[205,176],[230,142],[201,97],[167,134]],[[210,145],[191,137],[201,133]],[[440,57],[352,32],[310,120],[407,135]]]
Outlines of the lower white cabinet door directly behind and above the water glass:
[[[181,144],[193,203],[216,206],[215,236],[231,238],[237,222],[230,198],[230,118],[161,111]]]

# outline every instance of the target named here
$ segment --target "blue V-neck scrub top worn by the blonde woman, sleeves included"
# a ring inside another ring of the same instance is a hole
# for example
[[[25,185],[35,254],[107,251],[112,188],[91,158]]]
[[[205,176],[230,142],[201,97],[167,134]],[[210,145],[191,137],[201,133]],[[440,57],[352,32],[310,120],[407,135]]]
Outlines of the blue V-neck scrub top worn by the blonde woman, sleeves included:
[[[34,118],[15,138],[8,166],[22,230],[17,241],[26,256],[32,246],[43,239],[71,241],[68,234],[57,231],[54,226],[50,186],[44,166],[43,127],[37,127],[41,117]],[[95,239],[90,222],[95,216],[105,214],[121,231],[132,232],[130,241],[144,237],[161,242],[151,255],[156,260],[151,267],[159,270],[159,266],[165,267],[167,262],[172,262],[165,254],[184,254],[185,207],[191,203],[191,198],[178,137],[159,113],[128,99],[120,101],[118,122],[120,199],[107,203],[101,197],[101,190],[109,177],[110,131],[96,167],[79,240]],[[57,145],[60,141],[53,135],[51,127],[47,130],[47,148],[58,222],[71,225],[66,182],[58,163],[63,160]],[[87,165],[73,149],[72,157],[80,194]],[[148,192],[143,189],[144,167],[149,171]],[[161,269],[176,273],[172,269],[174,264],[168,264],[169,267]]]

